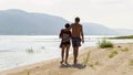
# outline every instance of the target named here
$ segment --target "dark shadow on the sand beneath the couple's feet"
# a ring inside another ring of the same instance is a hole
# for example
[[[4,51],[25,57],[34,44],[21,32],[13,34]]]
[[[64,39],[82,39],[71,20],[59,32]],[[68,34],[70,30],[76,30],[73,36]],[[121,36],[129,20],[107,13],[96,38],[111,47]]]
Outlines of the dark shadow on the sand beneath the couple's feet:
[[[82,69],[82,68],[85,68],[86,66],[83,65],[83,64],[61,64],[60,65],[61,68],[68,68],[68,67],[74,67],[74,68],[79,68],[79,69]]]

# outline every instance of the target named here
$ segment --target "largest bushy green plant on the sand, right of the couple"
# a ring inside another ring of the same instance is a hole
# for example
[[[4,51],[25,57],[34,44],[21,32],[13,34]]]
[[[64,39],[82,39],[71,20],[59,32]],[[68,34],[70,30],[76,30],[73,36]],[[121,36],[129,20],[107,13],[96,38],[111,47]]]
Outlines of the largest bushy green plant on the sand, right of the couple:
[[[101,42],[99,41],[98,46],[101,47],[101,49],[104,49],[104,47],[113,47],[114,45],[113,45],[112,42],[103,39]]]

